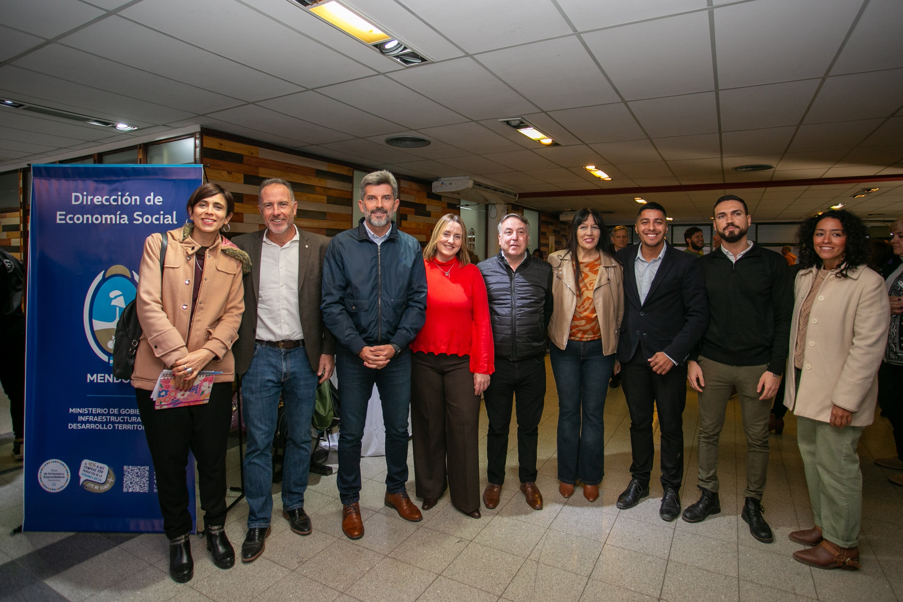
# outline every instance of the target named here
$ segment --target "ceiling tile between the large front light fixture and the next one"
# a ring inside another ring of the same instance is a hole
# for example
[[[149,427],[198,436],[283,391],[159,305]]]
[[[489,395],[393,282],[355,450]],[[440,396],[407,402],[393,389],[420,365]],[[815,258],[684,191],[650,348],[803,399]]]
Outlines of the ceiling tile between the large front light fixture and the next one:
[[[389,77],[471,119],[498,119],[536,110],[470,58],[396,71]]]

